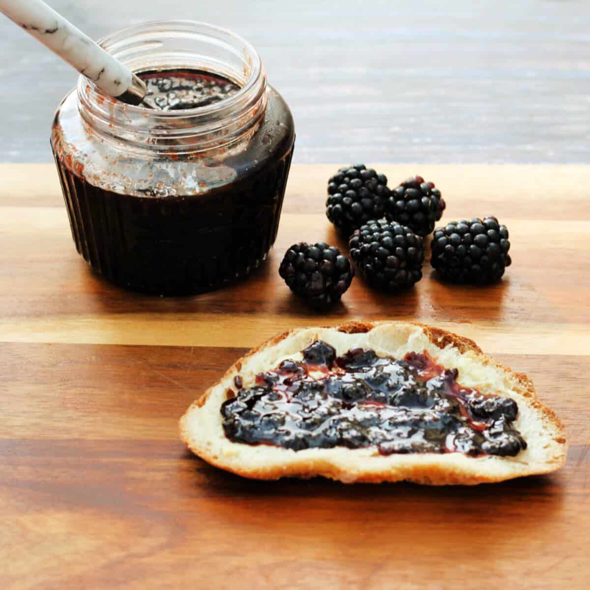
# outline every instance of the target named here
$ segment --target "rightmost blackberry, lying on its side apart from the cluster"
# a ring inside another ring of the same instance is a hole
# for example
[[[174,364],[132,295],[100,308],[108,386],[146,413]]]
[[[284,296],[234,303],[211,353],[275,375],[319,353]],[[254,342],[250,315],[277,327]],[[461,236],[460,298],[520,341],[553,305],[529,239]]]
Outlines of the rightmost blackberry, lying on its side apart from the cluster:
[[[495,217],[451,221],[432,238],[430,263],[451,283],[493,283],[512,260],[508,230]]]

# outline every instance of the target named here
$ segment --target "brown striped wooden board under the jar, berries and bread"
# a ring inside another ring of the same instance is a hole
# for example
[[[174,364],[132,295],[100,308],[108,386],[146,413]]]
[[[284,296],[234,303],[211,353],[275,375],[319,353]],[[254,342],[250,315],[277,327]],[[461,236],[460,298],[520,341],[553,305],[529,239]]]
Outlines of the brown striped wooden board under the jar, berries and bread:
[[[0,166],[0,587],[590,587],[590,168],[420,172],[445,219],[496,214],[513,266],[488,289],[388,297],[355,279],[307,310],[278,278],[323,216],[333,166],[293,166],[276,248],[255,276],[160,299],[95,276],[50,165]],[[245,350],[293,326],[417,319],[528,373],[571,450],[558,473],[473,488],[248,481],[185,450],[177,420]]]

